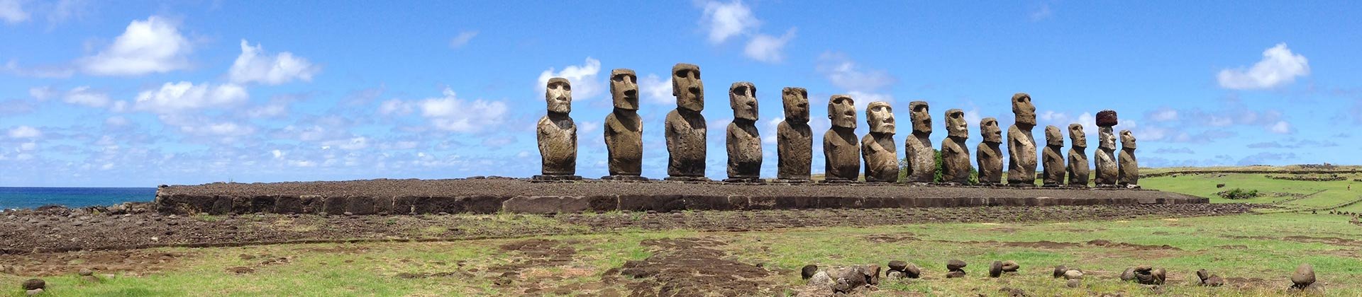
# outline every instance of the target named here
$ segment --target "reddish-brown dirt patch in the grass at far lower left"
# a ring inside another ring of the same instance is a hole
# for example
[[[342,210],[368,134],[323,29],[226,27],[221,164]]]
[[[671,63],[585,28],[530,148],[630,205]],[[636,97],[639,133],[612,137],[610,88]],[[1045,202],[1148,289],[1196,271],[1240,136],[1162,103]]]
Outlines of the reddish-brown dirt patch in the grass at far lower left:
[[[0,255],[0,263],[10,266],[15,275],[26,277],[75,274],[82,269],[99,274],[143,275],[173,269],[188,256],[188,254],[155,251],[44,252]]]

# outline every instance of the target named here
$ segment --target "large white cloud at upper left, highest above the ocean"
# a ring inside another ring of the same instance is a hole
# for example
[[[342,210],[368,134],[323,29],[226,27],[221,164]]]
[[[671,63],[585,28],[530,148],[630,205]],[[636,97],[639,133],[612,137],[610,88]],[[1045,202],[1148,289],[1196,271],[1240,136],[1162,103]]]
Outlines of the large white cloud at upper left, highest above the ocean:
[[[189,39],[180,35],[176,23],[150,16],[132,20],[113,45],[98,54],[78,61],[80,69],[97,76],[136,76],[189,68]]]

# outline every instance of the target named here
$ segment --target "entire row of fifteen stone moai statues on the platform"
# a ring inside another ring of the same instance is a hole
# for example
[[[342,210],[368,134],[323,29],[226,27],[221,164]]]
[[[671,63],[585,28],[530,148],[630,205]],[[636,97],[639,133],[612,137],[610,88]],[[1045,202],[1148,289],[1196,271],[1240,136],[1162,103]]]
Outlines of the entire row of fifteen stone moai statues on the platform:
[[[539,119],[538,142],[542,156],[541,180],[575,180],[576,176],[576,126],[568,114],[572,111],[571,83],[561,77],[548,81],[545,99],[548,115]],[[729,104],[733,108],[733,122],[726,130],[727,174],[725,182],[761,182],[761,137],[756,127],[757,98],[756,85],[746,81],[729,87]],[[706,167],[704,84],[700,68],[691,64],[677,64],[671,68],[671,95],[677,108],[666,115],[663,125],[667,146],[667,180],[700,182]],[[804,88],[789,87],[780,91],[785,104],[785,121],[776,126],[778,172],[780,182],[809,182],[813,161],[813,132],[809,127],[809,99]],[[605,119],[605,144],[609,151],[610,175],[607,180],[647,180],[643,171],[643,119],[639,117],[637,75],[631,69],[610,72],[610,96],[614,110]],[[858,182],[864,174],[865,182],[889,183],[933,183],[936,182],[936,151],[932,145],[932,115],[926,102],[908,103],[913,134],[904,141],[904,178],[900,180],[900,159],[893,140],[893,108],[885,102],[872,102],[865,117],[869,134],[857,141],[855,102],[849,95],[832,95],[828,99],[828,119],[831,127],[823,134],[824,182]],[[1031,136],[1035,127],[1035,106],[1027,94],[1012,96],[1012,113],[1016,122],[1008,127],[1008,184],[1035,186],[1036,145]],[[1135,159],[1135,136],[1121,132],[1122,151],[1115,157],[1115,136],[1111,126],[1117,125],[1115,111],[1098,113],[1096,121],[1099,152],[1096,153],[1098,186],[1137,184],[1139,164]],[[953,108],[945,113],[947,138],[941,144],[941,182],[951,184],[967,183],[974,170],[970,161],[968,123],[964,111]],[[1002,133],[998,121],[983,118],[979,122],[983,141],[978,145],[978,182],[982,184],[1002,184]],[[1041,152],[1045,164],[1042,184],[1073,186],[1088,184],[1087,137],[1083,125],[1069,125],[1072,146],[1068,152],[1068,165],[1061,156],[1062,132],[1056,126],[1045,130],[1046,145]],[[865,163],[862,171],[862,161]]]

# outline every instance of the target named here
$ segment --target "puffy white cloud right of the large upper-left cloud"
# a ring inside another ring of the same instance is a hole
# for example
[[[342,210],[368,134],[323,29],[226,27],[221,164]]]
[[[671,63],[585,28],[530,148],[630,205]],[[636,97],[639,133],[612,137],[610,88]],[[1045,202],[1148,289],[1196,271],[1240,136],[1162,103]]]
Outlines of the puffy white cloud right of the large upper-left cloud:
[[[247,39],[241,39],[241,56],[232,62],[227,76],[237,84],[283,84],[293,80],[312,81],[312,76],[320,71],[321,66],[306,58],[293,57],[293,53],[281,52],[271,57],[259,43],[251,46]]]

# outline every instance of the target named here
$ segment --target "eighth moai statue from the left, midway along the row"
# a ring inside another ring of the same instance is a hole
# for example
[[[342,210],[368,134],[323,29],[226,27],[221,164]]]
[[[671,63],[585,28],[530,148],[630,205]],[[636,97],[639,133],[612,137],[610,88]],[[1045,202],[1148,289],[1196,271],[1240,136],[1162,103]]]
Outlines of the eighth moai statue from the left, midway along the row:
[[[903,140],[903,155],[908,160],[906,183],[936,182],[936,148],[932,146],[932,110],[926,102],[908,103],[913,136]]]

